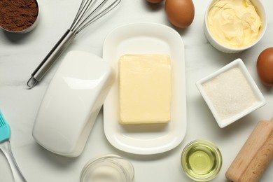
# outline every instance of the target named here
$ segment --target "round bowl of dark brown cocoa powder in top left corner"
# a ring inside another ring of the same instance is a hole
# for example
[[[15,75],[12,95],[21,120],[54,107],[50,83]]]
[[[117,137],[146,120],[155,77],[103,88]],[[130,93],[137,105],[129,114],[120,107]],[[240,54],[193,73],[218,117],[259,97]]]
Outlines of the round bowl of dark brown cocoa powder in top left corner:
[[[0,27],[8,32],[27,33],[38,24],[36,0],[1,0]]]

